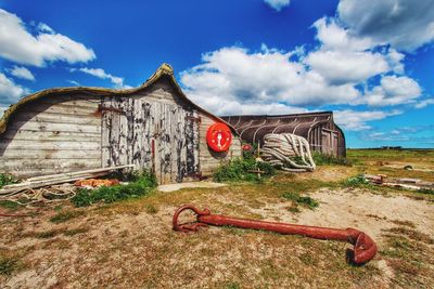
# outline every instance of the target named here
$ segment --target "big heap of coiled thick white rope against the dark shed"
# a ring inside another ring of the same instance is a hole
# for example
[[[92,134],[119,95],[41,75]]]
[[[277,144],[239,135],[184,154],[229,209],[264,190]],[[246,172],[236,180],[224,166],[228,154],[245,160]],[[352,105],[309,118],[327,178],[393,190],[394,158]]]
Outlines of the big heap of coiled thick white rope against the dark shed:
[[[269,133],[264,136],[260,157],[285,171],[312,171],[316,168],[306,139],[292,133]],[[294,158],[299,157],[297,163]]]

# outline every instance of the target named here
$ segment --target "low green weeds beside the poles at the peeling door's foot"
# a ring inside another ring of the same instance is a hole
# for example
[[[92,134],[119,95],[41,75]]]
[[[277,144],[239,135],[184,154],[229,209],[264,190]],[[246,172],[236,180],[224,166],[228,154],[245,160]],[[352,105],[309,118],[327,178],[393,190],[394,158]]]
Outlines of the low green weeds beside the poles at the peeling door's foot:
[[[110,203],[145,196],[157,185],[155,176],[149,172],[133,173],[128,178],[130,183],[125,185],[102,186],[97,189],[80,188],[72,201],[76,207],[86,207],[95,202]]]

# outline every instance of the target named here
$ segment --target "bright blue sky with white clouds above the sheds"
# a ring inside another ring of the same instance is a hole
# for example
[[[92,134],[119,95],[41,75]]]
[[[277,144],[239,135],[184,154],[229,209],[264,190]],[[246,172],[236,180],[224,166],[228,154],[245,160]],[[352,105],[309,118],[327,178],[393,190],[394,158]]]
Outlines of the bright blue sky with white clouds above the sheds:
[[[0,109],[164,62],[219,115],[334,110],[348,147],[434,146],[434,0],[0,0]]]

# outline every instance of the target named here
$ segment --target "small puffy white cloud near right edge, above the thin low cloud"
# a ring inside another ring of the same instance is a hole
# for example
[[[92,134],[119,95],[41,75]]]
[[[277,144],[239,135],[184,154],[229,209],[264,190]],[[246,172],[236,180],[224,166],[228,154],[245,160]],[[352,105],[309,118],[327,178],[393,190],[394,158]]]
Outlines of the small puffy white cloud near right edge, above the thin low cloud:
[[[421,94],[422,89],[413,79],[406,76],[385,76],[380,86],[366,92],[366,96],[359,103],[371,106],[399,105],[413,103]]]

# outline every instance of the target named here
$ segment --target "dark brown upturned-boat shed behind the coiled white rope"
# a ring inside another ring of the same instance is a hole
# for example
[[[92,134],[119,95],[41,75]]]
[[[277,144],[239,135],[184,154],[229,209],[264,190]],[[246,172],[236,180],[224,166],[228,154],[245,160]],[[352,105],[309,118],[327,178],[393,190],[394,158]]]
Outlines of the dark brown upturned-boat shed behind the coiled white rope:
[[[333,121],[332,111],[279,116],[224,116],[248,143],[263,143],[268,133],[293,133],[305,137],[310,149],[339,157],[346,156],[344,132]]]

